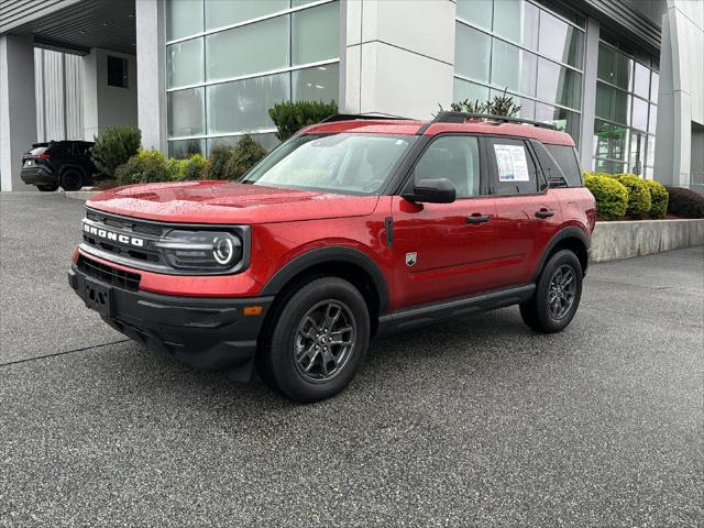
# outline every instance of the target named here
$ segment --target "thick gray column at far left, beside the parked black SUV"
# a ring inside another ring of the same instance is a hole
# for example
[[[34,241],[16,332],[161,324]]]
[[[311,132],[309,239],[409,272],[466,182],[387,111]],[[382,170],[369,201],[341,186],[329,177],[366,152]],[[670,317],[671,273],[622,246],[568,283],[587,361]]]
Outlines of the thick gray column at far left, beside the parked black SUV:
[[[0,190],[35,190],[20,179],[23,152],[36,142],[32,35],[0,36]]]

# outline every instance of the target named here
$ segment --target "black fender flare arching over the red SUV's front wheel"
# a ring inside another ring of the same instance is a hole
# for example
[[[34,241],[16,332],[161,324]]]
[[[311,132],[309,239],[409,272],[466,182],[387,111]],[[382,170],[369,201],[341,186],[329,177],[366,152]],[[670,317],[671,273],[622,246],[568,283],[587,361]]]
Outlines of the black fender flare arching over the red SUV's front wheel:
[[[386,314],[388,311],[388,285],[386,284],[386,278],[378,265],[360,250],[344,245],[317,248],[298,255],[290,262],[286,263],[272,278],[268,279],[260,295],[263,297],[276,295],[292,278],[304,273],[306,270],[318,264],[336,262],[353,264],[363,270],[372,278],[372,283],[376,288],[380,314]]]

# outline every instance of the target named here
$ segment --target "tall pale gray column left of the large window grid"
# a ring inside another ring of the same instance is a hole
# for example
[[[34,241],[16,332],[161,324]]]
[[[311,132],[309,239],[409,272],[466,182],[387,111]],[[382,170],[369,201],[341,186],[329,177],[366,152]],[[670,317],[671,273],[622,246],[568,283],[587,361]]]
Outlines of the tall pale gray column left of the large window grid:
[[[164,154],[166,143],[166,28],[164,0],[139,0],[136,11],[138,119],[142,146]]]

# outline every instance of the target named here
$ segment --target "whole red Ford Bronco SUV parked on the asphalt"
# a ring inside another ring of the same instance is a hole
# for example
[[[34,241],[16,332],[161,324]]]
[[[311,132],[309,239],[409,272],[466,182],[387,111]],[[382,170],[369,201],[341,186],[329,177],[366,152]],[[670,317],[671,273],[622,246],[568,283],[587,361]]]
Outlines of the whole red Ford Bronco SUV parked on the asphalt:
[[[341,391],[370,338],[519,305],[556,332],[594,228],[572,139],[442,112],[336,116],[240,182],[122,187],[87,202],[69,282],[120,332],[297,402]]]

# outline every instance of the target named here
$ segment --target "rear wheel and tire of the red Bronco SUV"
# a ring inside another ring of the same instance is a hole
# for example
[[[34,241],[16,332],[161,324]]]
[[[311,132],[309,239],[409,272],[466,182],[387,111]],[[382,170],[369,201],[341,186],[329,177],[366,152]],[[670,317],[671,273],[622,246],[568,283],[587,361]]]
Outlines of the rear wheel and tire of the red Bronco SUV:
[[[524,322],[537,332],[563,330],[580,306],[582,275],[580,260],[570,250],[552,255],[542,268],[536,293],[528,302],[520,305]]]

